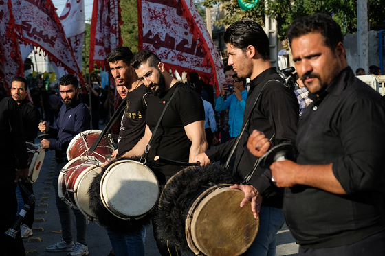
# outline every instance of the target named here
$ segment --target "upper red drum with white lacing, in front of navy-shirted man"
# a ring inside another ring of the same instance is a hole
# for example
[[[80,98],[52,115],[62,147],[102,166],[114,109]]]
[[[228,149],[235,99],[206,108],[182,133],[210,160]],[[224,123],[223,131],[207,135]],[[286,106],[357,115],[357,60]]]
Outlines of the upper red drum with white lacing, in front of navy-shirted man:
[[[68,161],[75,159],[78,156],[95,156],[100,161],[107,161],[108,156],[113,154],[113,140],[110,136],[104,135],[100,140],[100,143],[95,148],[94,152],[90,152],[96,139],[98,139],[101,130],[86,130],[76,135],[67,148]]]

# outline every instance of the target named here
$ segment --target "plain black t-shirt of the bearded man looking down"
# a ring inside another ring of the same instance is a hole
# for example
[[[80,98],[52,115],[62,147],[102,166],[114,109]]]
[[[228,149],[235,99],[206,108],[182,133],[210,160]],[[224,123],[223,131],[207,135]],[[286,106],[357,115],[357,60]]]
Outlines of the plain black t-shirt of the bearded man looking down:
[[[160,97],[154,95],[148,97],[146,123],[151,132],[177,86],[181,86],[181,88],[168,105],[151,143],[150,159],[162,156],[167,159],[188,162],[191,141],[186,135],[184,126],[205,120],[201,97],[190,86],[177,82]],[[164,163],[158,163],[158,165],[166,176],[173,175],[182,168]]]

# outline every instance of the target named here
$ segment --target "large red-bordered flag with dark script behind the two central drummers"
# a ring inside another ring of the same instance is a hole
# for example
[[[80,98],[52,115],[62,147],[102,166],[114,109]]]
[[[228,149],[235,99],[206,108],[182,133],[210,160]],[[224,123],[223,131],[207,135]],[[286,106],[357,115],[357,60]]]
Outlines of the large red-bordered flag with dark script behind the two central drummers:
[[[208,84],[225,83],[217,47],[191,0],[138,0],[139,49],[153,51],[167,69],[196,71]]]

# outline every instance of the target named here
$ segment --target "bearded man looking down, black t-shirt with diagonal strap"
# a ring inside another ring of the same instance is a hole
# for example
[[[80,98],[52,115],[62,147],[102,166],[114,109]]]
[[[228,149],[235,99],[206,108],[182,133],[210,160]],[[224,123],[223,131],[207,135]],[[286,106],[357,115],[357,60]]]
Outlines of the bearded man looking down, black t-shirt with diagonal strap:
[[[181,86],[168,105],[154,134],[149,158],[154,159],[155,156],[162,156],[176,161],[192,161],[194,156],[204,152],[208,145],[201,97],[195,93],[194,89],[173,78],[166,70],[164,63],[151,51],[139,51],[131,60],[131,65],[144,85],[151,89],[152,95],[148,97],[144,137],[124,156],[141,156],[143,154],[166,102],[175,89]],[[182,168],[165,163],[157,163],[157,165],[164,174],[164,181],[159,181],[162,185],[166,179]],[[168,248],[167,244],[158,240],[156,227],[154,227],[154,232],[160,253],[162,255],[177,255],[175,248]]]

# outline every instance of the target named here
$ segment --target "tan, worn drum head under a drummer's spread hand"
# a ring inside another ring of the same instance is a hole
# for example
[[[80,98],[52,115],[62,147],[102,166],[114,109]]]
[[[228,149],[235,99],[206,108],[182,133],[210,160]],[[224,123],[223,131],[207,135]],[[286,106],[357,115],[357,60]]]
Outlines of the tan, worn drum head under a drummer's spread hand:
[[[190,209],[192,221],[186,221],[186,237],[191,231],[194,245],[208,256],[241,255],[252,244],[259,228],[251,204],[239,207],[244,194],[223,187],[215,189]],[[190,226],[188,226],[190,224]]]

